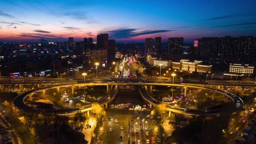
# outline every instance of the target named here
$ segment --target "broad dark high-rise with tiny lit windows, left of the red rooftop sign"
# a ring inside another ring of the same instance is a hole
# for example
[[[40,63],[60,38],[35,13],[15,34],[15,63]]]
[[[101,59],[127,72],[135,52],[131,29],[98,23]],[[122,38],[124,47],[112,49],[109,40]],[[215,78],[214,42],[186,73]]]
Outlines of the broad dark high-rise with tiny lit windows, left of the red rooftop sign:
[[[183,37],[168,38],[168,54],[181,55],[183,48]]]

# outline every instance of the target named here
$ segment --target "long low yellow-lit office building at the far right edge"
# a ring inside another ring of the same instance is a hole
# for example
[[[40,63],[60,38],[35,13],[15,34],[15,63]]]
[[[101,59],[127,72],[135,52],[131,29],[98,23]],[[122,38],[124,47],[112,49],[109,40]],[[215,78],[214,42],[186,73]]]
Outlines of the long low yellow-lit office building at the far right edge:
[[[253,74],[254,67],[248,64],[229,64],[229,72],[238,74]]]

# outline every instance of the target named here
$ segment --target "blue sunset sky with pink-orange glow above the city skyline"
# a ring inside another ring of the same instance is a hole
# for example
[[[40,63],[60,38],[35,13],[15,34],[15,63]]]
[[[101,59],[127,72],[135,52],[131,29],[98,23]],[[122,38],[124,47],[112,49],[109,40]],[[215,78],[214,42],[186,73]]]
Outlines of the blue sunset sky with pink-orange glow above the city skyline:
[[[3,42],[256,36],[256,0],[1,0]]]

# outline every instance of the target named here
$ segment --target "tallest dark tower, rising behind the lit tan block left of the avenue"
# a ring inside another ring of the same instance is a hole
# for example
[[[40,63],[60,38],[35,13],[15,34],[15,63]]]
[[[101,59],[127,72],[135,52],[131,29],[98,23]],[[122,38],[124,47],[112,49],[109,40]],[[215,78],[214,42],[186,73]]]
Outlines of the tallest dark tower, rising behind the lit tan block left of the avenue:
[[[109,56],[109,35],[108,34],[98,34],[97,49],[106,49],[107,56]],[[107,57],[107,59],[109,58]]]

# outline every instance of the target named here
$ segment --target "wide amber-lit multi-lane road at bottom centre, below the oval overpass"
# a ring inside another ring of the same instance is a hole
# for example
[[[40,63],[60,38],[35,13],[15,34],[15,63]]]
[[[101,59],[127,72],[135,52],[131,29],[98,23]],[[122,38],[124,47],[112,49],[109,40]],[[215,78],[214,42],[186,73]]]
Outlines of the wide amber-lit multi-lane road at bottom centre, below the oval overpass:
[[[109,117],[110,120],[105,120],[107,126],[102,142],[103,144],[127,144],[128,135],[131,138],[129,144],[132,144],[133,141],[135,142],[135,144],[137,144],[137,140],[142,141],[144,139],[146,141],[146,139],[150,140],[151,136],[153,136],[152,121],[149,117],[146,117],[147,114],[150,114],[150,111],[145,110],[141,113],[137,113],[137,110],[108,109],[106,110],[106,112],[107,117]],[[114,117],[111,117],[111,114]],[[137,115],[133,116],[134,114]],[[140,119],[137,120],[137,117],[140,117]],[[145,119],[147,123],[145,123],[145,121],[141,122],[142,119]],[[119,122],[116,123],[115,120],[118,120]],[[134,120],[134,122],[132,123],[131,120]],[[137,125],[136,122],[138,122]],[[128,123],[130,123],[130,129],[128,129]],[[123,126],[124,129],[121,129],[121,126]],[[145,129],[145,126],[147,126],[147,129]],[[110,128],[112,128],[112,132],[109,131]],[[141,129],[143,130],[143,132],[141,132]],[[149,132],[148,136],[146,136],[146,131]],[[134,132],[134,135],[132,135],[132,132]],[[135,134],[136,132],[138,132],[138,135]],[[120,136],[123,137],[123,140],[119,139]]]

